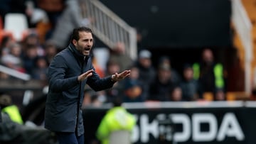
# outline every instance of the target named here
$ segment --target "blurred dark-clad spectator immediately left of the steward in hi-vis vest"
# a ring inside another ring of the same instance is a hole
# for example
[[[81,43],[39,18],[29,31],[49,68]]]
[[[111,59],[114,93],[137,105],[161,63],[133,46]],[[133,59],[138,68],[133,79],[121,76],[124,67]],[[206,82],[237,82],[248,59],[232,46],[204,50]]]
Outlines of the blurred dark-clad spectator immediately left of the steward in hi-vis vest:
[[[198,82],[193,79],[193,68],[186,64],[183,67],[183,80],[181,81],[182,99],[194,101],[198,99]]]

